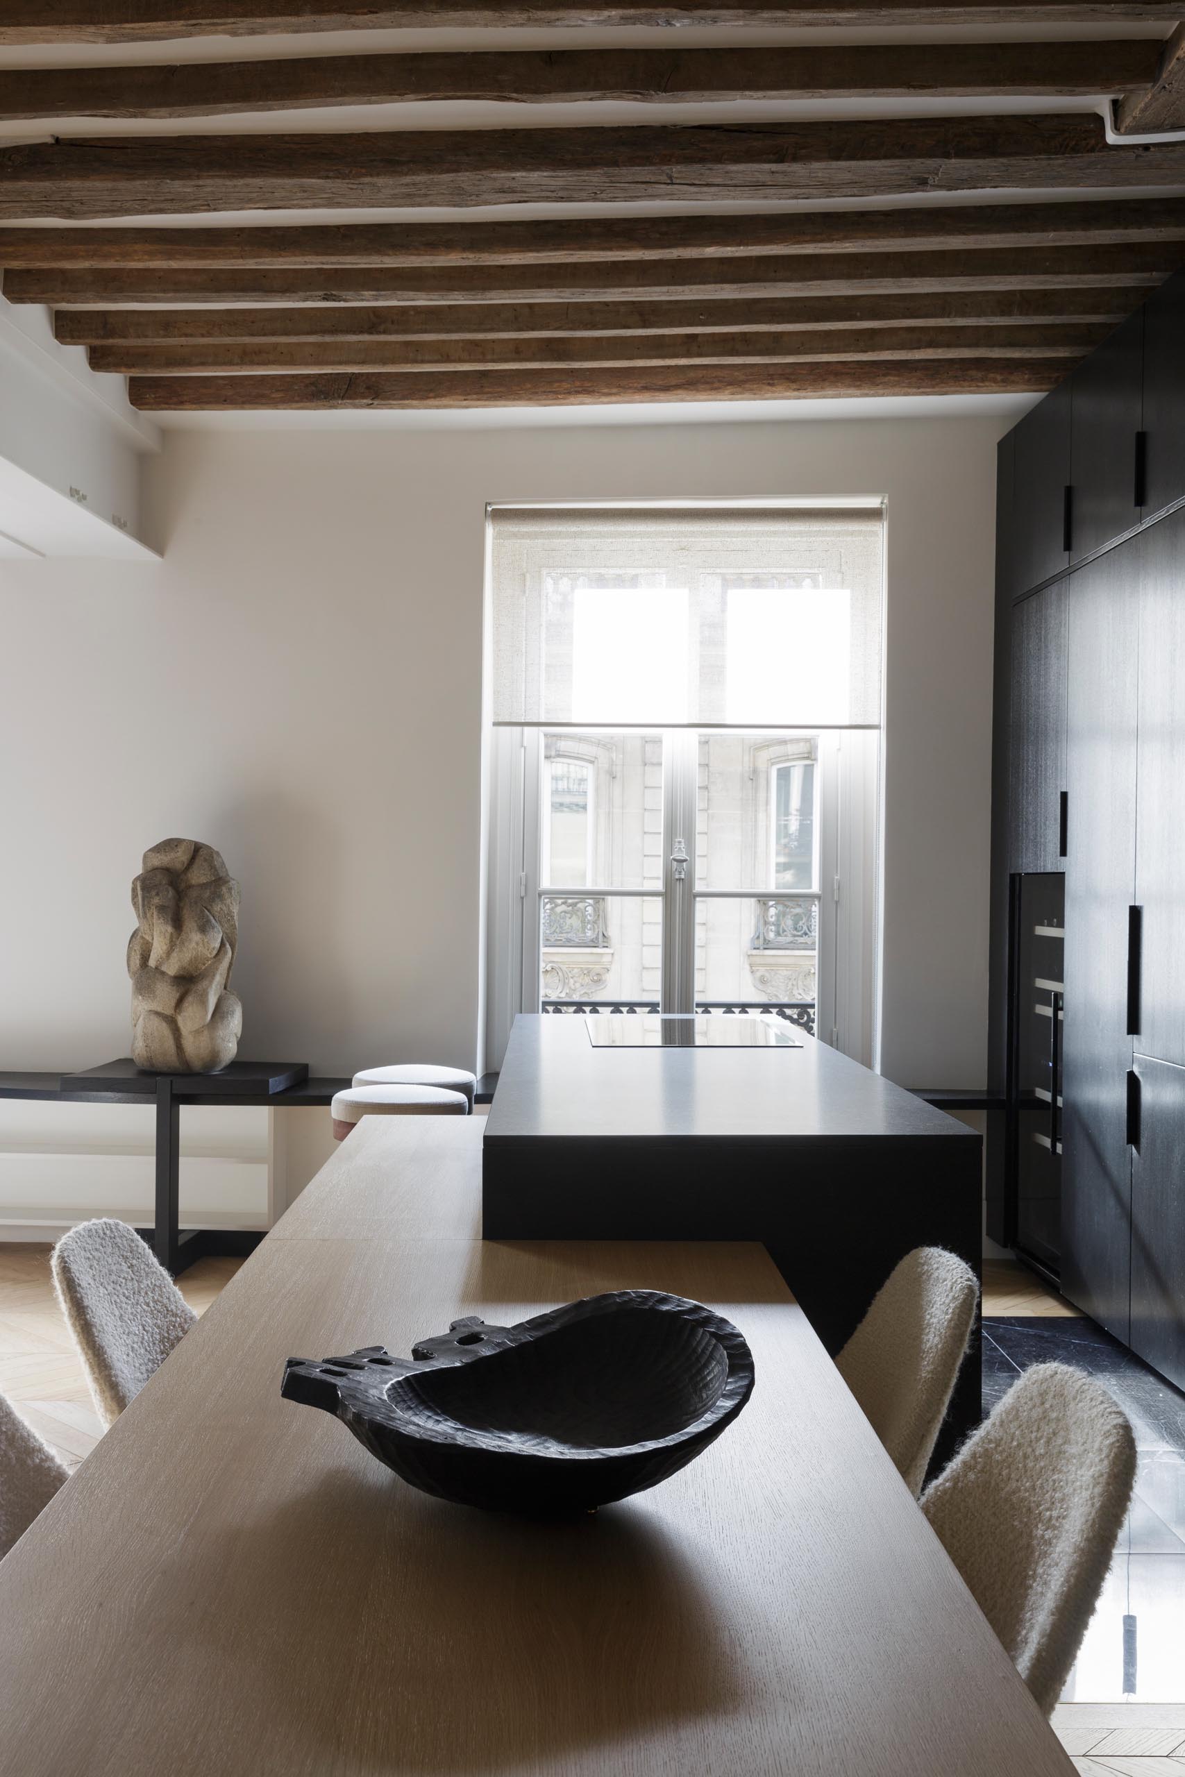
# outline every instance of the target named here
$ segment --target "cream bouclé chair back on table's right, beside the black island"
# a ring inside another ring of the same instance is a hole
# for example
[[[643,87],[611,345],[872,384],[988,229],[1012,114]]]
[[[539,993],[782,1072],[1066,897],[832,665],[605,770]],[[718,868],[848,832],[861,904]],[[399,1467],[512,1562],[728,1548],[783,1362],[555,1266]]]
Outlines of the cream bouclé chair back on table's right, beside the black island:
[[[913,1498],[975,1324],[979,1283],[940,1246],[906,1253],[835,1359]]]

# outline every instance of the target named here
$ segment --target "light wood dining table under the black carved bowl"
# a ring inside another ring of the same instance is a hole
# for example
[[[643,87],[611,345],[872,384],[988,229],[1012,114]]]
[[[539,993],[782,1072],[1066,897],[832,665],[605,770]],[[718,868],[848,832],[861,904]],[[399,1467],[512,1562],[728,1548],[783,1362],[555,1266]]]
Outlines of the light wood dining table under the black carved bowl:
[[[483,1242],[481,1118],[370,1118],[0,1562],[5,1777],[1066,1777],[760,1246]],[[757,1386],[567,1523],[414,1491],[284,1358],[648,1287]]]

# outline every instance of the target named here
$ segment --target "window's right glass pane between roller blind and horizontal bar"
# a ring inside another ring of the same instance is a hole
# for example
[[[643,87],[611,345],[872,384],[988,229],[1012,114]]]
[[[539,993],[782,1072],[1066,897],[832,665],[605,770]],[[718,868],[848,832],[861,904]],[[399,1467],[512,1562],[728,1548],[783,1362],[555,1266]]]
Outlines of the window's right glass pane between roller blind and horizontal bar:
[[[817,736],[700,736],[696,888],[819,885]]]

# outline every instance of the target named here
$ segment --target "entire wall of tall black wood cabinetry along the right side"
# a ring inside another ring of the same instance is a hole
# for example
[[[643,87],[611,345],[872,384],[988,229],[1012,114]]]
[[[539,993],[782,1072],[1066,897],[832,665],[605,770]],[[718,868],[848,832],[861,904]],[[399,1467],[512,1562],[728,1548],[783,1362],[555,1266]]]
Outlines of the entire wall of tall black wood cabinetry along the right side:
[[[988,1230],[1185,1388],[1185,272],[998,462]]]

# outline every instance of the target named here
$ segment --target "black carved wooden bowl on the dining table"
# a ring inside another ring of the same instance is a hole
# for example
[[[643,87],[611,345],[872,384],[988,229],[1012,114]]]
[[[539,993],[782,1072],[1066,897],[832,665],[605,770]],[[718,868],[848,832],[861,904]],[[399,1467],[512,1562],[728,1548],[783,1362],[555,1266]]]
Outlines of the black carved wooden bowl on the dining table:
[[[657,1486],[753,1391],[730,1320],[657,1290],[588,1295],[512,1327],[453,1320],[410,1359],[382,1345],[290,1358],[281,1393],[322,1407],[423,1493],[489,1510],[586,1512]]]

